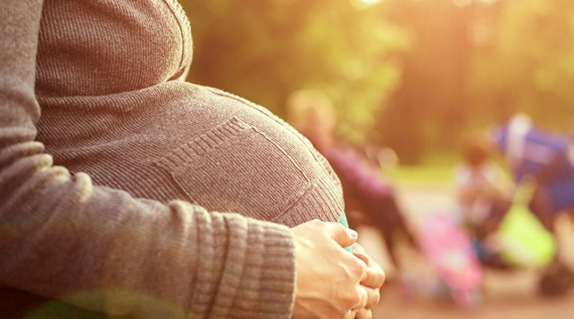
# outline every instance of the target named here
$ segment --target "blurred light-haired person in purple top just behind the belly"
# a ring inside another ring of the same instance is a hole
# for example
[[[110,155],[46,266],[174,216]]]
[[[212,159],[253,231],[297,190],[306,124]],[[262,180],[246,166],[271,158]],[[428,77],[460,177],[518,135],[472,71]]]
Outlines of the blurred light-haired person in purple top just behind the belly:
[[[377,227],[393,263],[399,266],[397,237],[403,236],[412,245],[414,239],[397,206],[394,190],[379,167],[336,137],[337,115],[329,98],[320,91],[294,92],[288,100],[288,122],[311,141],[339,176],[351,227],[359,223]]]

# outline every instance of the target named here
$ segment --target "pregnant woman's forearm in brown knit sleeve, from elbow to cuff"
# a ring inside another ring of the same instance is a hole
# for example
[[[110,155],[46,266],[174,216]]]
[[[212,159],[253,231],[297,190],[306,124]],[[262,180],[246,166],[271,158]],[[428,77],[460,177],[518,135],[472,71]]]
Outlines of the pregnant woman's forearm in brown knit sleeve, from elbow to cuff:
[[[51,196],[19,192],[2,205],[3,285],[110,314],[288,316],[289,229],[182,202],[134,200],[88,187],[83,174],[48,184],[41,190]]]

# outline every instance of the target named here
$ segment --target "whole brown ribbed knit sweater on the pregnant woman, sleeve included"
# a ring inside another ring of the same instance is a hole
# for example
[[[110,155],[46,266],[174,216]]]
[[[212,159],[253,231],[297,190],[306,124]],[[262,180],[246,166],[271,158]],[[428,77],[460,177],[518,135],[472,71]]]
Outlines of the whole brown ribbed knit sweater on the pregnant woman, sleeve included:
[[[289,317],[285,225],[338,220],[338,178],[191,56],[176,0],[2,0],[0,317]]]

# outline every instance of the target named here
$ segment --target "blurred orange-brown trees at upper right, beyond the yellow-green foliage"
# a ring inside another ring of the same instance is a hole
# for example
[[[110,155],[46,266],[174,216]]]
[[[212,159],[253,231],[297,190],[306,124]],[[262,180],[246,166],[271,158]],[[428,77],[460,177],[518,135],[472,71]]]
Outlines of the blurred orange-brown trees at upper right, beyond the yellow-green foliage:
[[[389,0],[408,29],[404,74],[382,109],[383,141],[403,162],[452,151],[464,136],[514,112],[574,129],[574,2]]]

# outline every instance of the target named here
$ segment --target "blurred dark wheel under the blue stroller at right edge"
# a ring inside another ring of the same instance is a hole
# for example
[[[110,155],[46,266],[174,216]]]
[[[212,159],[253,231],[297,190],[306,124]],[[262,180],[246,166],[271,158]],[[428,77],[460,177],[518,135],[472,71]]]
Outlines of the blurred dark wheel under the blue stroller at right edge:
[[[557,297],[568,293],[574,286],[574,273],[565,264],[554,262],[540,279],[540,293],[545,297]]]

